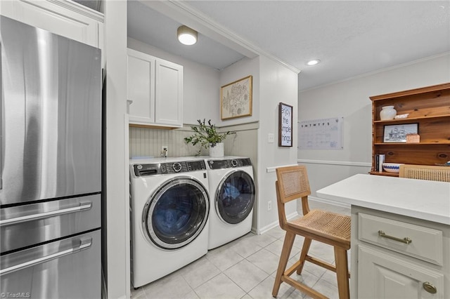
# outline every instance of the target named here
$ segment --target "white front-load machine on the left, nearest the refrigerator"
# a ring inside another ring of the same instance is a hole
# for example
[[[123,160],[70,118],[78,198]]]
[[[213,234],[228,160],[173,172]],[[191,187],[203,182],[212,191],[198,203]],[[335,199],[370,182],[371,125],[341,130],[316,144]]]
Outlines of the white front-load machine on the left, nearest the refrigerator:
[[[130,160],[131,283],[139,288],[207,253],[204,159]]]

